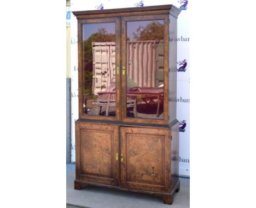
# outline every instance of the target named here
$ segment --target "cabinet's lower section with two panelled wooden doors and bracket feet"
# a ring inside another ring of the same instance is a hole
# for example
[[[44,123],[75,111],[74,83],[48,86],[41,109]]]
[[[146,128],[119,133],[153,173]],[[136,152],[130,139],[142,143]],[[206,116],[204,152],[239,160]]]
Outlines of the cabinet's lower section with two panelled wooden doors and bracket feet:
[[[179,191],[179,124],[171,128],[75,123],[75,189],[104,186],[154,194]]]

